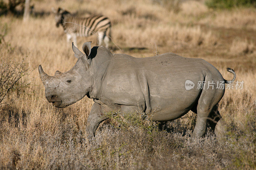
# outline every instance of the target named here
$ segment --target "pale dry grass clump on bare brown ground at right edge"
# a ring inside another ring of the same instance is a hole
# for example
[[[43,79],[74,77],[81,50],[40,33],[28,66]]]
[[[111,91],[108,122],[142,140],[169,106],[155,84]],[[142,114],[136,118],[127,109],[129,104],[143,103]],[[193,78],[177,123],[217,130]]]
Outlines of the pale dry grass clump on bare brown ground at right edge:
[[[241,40],[241,39],[234,39],[232,41],[232,44],[230,46],[230,54],[232,55],[245,55],[253,53],[255,50],[255,46],[252,42],[248,42],[247,39]]]

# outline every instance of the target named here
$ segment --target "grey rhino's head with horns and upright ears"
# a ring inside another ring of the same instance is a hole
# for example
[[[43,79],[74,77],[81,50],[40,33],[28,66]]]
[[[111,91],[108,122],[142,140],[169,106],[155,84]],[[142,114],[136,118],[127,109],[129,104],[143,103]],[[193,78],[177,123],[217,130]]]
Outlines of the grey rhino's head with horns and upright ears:
[[[65,73],[56,71],[54,76],[49,76],[41,65],[38,67],[39,76],[45,87],[45,97],[55,107],[67,107],[81,100],[92,87],[91,42],[84,43],[85,54],[73,43],[72,49],[78,60],[71,70]]]

